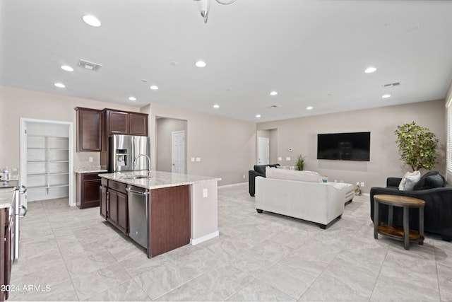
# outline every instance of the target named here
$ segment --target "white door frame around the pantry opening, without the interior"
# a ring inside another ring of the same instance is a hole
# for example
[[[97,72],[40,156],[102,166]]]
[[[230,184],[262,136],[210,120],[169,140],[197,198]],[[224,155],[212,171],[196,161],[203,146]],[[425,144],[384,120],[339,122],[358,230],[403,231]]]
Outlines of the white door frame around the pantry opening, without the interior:
[[[20,185],[27,185],[27,135],[25,133],[28,123],[42,123],[42,124],[61,124],[68,126],[69,137],[69,207],[76,206],[73,190],[73,122],[61,122],[55,120],[36,120],[25,117],[20,117]],[[26,193],[20,194],[20,204],[25,207],[27,205]]]

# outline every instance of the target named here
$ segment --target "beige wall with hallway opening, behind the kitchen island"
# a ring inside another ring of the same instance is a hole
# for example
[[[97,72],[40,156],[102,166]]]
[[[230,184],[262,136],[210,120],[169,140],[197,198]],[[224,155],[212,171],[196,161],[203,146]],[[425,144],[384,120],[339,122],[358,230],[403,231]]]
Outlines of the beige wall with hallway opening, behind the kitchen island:
[[[150,112],[151,161],[154,167],[156,148],[159,148],[155,141],[156,117],[167,117],[186,120],[187,174],[222,178],[218,185],[248,181],[248,170],[256,160],[254,122],[160,104],[151,104],[145,110]],[[201,158],[201,161],[191,162],[192,157]]]

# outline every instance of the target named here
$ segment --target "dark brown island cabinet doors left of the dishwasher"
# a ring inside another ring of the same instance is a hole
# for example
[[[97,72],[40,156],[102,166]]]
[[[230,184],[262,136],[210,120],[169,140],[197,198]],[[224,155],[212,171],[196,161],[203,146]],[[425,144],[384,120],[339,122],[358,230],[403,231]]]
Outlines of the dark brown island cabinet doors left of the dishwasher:
[[[114,180],[102,179],[102,185],[97,190],[100,195],[100,216],[123,233],[129,234],[129,204],[126,185]]]

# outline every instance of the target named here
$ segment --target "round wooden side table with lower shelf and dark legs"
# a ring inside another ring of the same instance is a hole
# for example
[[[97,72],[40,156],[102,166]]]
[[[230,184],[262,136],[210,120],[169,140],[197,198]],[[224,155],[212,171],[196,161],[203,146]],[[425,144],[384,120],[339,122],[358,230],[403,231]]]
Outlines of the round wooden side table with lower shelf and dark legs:
[[[389,206],[388,226],[379,225],[379,204],[387,204]],[[417,242],[420,245],[424,244],[424,206],[424,200],[413,197],[388,194],[374,195],[374,238],[378,239],[378,234],[380,233],[397,240],[403,240],[405,250],[410,248],[410,242]],[[392,226],[393,207],[403,207],[403,228]],[[410,231],[408,215],[410,208],[419,209],[419,233]]]

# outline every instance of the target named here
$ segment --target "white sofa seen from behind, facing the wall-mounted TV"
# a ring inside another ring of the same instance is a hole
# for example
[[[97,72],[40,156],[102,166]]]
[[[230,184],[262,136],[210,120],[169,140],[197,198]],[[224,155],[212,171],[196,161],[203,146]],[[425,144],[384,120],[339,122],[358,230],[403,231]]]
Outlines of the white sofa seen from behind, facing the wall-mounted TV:
[[[347,187],[324,183],[312,171],[267,168],[266,178],[256,177],[256,210],[270,211],[318,223],[328,228],[344,211]]]

